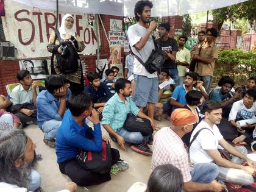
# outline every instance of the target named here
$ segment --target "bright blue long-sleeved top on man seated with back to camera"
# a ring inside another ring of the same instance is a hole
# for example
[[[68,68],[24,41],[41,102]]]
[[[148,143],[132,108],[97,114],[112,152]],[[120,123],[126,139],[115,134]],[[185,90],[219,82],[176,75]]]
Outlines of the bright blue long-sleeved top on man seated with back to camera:
[[[83,122],[84,126],[77,124],[70,110],[66,110],[56,134],[57,163],[76,157],[79,149],[93,152],[102,150],[101,124],[94,124],[94,130],[91,131],[85,118]],[[85,138],[89,134],[93,140]]]

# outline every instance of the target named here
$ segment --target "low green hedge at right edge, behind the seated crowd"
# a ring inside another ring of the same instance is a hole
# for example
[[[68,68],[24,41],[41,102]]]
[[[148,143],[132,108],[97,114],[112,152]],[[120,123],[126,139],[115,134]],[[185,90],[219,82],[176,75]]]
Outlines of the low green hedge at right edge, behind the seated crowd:
[[[256,54],[250,51],[224,49],[219,51],[216,66],[216,78],[226,74],[235,79],[236,84],[240,84],[248,77],[256,76]]]

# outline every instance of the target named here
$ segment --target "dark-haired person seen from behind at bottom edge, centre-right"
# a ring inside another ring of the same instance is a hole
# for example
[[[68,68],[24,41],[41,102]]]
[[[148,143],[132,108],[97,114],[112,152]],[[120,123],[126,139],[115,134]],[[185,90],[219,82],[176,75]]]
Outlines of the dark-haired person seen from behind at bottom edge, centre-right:
[[[127,192],[180,192],[182,191],[182,173],[171,164],[160,165],[154,169],[148,180],[144,183],[134,183]]]

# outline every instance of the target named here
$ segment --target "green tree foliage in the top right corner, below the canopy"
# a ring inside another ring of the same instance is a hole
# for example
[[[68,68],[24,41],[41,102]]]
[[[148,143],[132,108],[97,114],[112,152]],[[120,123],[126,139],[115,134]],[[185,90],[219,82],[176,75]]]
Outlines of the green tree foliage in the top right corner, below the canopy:
[[[235,21],[246,18],[252,25],[256,20],[256,0],[241,2],[240,4],[231,5],[213,10],[213,17],[218,21],[218,29],[226,20]]]

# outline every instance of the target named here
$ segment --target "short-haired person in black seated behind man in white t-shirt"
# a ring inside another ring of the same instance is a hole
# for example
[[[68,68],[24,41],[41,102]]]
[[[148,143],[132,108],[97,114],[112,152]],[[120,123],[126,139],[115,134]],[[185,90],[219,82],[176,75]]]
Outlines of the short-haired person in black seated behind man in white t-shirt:
[[[197,107],[198,105],[201,105],[202,102],[204,102],[204,96],[202,95],[201,91],[192,90],[192,91],[188,91],[185,98],[187,101],[187,105],[185,105],[183,108],[187,108],[188,110],[191,110],[191,112],[194,113],[194,115],[196,115],[198,119],[197,123],[193,124],[193,129],[191,130],[191,132],[185,134],[182,137],[182,141],[188,146],[190,144],[190,137],[194,128],[202,120],[202,118],[204,118],[204,115],[200,113],[200,110]]]

